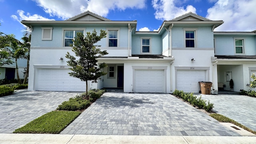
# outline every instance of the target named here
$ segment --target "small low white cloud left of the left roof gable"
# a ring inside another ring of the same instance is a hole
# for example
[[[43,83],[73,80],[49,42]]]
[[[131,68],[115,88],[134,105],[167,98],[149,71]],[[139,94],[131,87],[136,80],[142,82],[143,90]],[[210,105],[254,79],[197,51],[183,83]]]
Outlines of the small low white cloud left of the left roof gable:
[[[12,15],[11,17],[14,20],[17,20],[18,22],[22,20],[54,20],[54,19],[44,18],[38,14],[33,14],[33,15],[30,15],[30,13],[24,14],[23,10],[17,10],[17,13],[18,13],[18,16]]]

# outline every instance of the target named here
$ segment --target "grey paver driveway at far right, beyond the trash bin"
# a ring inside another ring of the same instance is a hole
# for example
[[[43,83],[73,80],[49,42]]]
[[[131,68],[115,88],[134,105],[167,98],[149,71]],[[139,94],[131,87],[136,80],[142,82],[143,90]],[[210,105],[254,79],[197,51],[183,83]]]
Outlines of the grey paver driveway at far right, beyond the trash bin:
[[[256,131],[256,98],[242,95],[204,95],[214,103],[213,110]]]

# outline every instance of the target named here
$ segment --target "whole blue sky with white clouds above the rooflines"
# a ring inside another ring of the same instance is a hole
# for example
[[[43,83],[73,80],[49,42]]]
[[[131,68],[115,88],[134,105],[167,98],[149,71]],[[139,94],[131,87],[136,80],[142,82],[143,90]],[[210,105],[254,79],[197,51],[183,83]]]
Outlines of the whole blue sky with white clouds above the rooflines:
[[[74,1],[74,2],[72,2]],[[223,20],[215,31],[256,30],[256,0],[0,0],[0,31],[22,37],[21,20],[66,20],[90,10],[110,20],[137,20],[137,31],[193,12]]]

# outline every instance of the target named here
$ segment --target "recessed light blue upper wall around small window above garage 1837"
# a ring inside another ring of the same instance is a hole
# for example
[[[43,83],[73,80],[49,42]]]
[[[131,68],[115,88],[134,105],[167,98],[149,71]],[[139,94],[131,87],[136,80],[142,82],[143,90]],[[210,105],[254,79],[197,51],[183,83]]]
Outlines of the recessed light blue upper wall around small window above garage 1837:
[[[135,34],[132,35],[132,54],[141,54],[141,37],[151,38],[151,54],[162,54],[162,39],[159,35]]]

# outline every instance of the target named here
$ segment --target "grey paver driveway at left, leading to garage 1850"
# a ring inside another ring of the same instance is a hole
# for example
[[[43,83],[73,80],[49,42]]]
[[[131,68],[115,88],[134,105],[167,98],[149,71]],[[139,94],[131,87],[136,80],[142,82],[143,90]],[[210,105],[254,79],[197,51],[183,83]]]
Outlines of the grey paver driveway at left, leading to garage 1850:
[[[10,96],[0,97],[0,133],[12,133],[35,118],[55,110],[73,96],[76,93],[18,90]]]

